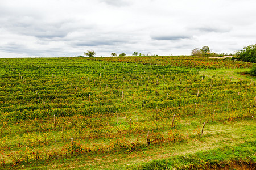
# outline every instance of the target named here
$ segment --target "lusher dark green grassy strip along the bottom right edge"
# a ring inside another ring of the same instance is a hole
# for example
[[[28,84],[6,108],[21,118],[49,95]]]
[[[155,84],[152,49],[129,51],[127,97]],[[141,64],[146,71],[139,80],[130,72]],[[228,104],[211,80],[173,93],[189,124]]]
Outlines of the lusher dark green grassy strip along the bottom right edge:
[[[196,154],[153,160],[122,169],[209,169],[223,168],[232,164],[243,164],[253,169],[256,165],[255,152],[256,141],[251,141],[236,146],[226,145],[209,151],[200,151]]]

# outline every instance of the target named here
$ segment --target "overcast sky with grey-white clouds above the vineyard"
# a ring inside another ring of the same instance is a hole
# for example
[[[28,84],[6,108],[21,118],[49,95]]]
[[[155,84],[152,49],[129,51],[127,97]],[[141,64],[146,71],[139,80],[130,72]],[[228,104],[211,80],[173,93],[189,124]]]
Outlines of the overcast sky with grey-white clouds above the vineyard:
[[[0,0],[0,57],[190,55],[256,43],[255,0]]]

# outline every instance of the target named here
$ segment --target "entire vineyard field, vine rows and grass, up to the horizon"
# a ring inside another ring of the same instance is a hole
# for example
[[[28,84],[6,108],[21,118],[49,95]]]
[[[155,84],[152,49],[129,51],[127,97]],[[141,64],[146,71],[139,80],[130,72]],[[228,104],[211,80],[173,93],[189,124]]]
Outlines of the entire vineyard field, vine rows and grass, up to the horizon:
[[[1,58],[0,169],[255,168],[252,63]]]

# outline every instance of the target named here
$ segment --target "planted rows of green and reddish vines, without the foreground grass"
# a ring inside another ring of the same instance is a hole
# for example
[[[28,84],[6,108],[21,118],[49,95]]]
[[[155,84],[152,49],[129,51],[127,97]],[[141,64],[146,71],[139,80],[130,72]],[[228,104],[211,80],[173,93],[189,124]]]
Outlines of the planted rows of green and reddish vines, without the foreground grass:
[[[206,60],[191,56],[93,59],[0,60],[3,167],[189,141],[204,122],[255,114],[253,79],[198,70],[249,63],[209,60],[210,67],[200,67]]]

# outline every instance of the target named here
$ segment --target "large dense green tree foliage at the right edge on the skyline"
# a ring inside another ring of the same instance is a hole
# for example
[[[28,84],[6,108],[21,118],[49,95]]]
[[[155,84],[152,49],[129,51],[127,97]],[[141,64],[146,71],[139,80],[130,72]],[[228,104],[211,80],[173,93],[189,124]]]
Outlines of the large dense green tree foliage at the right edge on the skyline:
[[[256,44],[245,46],[243,50],[237,51],[232,59],[256,62]]]

